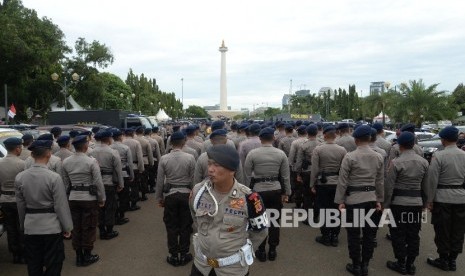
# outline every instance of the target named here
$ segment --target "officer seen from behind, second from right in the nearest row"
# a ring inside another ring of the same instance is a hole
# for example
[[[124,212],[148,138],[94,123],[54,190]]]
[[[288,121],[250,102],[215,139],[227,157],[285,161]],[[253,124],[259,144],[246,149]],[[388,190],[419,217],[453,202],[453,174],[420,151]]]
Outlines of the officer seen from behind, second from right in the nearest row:
[[[385,179],[384,208],[391,208],[396,227],[390,229],[394,257],[387,267],[401,274],[415,274],[420,248],[422,193],[426,190],[428,161],[412,150],[415,135],[403,132],[397,139],[400,156],[392,161]]]

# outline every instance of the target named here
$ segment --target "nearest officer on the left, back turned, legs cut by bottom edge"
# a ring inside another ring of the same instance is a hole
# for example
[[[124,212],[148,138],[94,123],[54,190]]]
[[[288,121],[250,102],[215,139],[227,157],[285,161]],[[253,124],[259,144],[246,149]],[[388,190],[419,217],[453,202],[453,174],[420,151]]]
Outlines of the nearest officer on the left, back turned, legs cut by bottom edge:
[[[66,190],[61,176],[47,168],[52,141],[35,141],[29,149],[34,165],[15,181],[28,274],[58,276],[65,259],[63,236],[73,229]]]

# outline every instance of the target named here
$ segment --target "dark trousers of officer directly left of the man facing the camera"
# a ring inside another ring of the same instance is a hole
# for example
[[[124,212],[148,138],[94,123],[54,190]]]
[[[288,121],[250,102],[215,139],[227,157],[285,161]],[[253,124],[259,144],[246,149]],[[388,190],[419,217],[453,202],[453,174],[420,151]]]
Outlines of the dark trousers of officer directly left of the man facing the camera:
[[[188,253],[193,222],[189,209],[189,194],[174,193],[165,197],[163,221],[168,234],[169,253]]]

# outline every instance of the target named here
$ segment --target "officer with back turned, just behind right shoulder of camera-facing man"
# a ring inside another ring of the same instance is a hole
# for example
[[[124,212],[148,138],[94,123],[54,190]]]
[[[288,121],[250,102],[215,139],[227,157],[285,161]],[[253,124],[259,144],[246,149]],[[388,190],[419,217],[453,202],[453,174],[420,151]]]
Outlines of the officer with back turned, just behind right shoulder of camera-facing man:
[[[263,198],[267,208],[281,211],[283,202],[291,195],[289,183],[289,161],[286,154],[273,147],[274,130],[266,127],[259,134],[262,146],[249,152],[245,159],[244,171],[247,183]],[[271,226],[269,230],[268,259],[274,261],[277,256],[276,247],[279,245],[280,229]],[[255,253],[257,258],[266,261],[266,239],[260,244]]]

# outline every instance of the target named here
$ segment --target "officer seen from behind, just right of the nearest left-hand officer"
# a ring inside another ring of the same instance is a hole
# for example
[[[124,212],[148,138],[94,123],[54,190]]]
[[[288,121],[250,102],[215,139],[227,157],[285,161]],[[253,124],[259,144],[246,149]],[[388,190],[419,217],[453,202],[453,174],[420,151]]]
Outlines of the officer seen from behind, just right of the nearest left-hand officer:
[[[86,154],[89,147],[87,136],[74,138],[73,146],[76,152],[63,161],[63,182],[70,190],[76,266],[88,266],[100,259],[91,252],[96,239],[99,207],[105,206],[105,188],[97,160]]]

